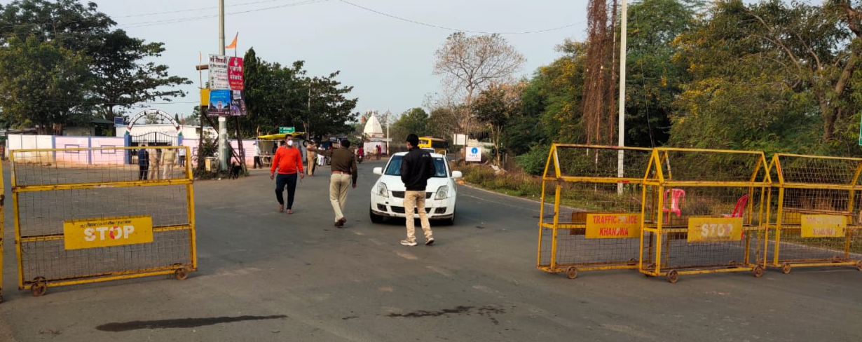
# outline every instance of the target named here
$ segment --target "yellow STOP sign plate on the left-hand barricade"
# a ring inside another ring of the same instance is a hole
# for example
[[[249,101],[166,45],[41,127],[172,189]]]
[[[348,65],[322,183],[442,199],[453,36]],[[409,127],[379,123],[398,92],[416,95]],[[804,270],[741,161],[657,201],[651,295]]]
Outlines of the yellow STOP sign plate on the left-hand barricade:
[[[152,216],[103,217],[63,221],[66,249],[146,244],[153,242]]]

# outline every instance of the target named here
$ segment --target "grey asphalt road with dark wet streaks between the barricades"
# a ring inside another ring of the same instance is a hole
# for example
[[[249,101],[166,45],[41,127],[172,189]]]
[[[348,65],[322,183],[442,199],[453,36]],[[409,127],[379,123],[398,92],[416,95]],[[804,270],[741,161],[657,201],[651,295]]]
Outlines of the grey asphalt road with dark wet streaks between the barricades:
[[[853,268],[682,276],[632,270],[576,280],[535,269],[539,205],[459,187],[434,246],[400,246],[403,221],[372,224],[359,166],[347,226],[333,227],[328,169],[279,214],[267,171],[197,182],[199,270],[16,289],[7,201],[0,341],[860,341]],[[9,165],[4,164],[4,169]],[[9,171],[4,170],[8,189]]]

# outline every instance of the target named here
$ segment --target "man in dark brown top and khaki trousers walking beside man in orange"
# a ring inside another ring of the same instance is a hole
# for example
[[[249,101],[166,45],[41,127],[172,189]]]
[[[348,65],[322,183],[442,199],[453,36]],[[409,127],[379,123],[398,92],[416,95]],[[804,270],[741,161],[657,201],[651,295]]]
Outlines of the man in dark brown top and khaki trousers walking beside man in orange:
[[[344,204],[347,202],[347,187],[353,184],[356,189],[356,179],[359,177],[359,168],[356,167],[356,158],[350,152],[350,141],[341,140],[341,147],[331,151],[322,152],[332,161],[332,176],[329,177],[329,202],[335,212],[335,227],[343,227],[347,219],[344,217]]]

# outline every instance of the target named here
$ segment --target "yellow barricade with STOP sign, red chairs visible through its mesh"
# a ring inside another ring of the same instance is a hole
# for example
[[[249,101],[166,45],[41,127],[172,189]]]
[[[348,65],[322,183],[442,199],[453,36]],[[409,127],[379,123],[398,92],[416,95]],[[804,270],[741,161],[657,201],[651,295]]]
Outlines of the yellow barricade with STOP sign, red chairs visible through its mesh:
[[[763,152],[656,148],[643,190],[638,269],[647,276],[753,270],[770,184]],[[755,257],[752,257],[755,254]]]

